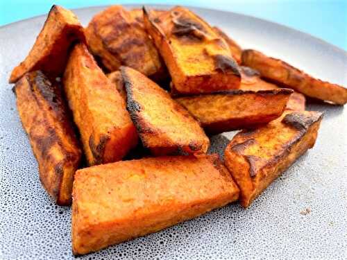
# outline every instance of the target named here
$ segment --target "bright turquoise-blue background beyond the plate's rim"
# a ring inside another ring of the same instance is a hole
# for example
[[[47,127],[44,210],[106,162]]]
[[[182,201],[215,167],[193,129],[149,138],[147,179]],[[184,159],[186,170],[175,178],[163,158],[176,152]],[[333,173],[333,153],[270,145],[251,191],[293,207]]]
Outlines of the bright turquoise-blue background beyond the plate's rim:
[[[198,6],[239,12],[310,33],[341,49],[347,50],[347,0],[283,1],[283,0],[214,0],[214,1],[153,1],[153,0],[0,0],[0,26],[42,15],[56,3],[65,8],[83,8],[121,3],[162,3]],[[230,21],[232,22],[232,21]]]

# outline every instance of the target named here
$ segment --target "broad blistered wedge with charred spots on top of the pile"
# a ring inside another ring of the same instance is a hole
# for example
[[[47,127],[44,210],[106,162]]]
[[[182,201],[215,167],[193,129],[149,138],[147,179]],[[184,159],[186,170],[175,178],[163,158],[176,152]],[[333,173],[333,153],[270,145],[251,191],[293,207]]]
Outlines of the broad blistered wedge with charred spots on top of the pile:
[[[237,89],[239,67],[225,40],[187,8],[160,15],[144,10],[144,26],[167,64],[172,92],[199,94]]]

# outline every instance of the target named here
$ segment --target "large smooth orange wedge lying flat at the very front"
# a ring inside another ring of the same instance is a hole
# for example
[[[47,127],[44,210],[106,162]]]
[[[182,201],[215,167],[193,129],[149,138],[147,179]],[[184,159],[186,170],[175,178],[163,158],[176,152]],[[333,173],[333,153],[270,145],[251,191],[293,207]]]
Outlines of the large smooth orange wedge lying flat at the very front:
[[[217,155],[122,161],[77,171],[72,250],[87,254],[158,232],[237,200]]]

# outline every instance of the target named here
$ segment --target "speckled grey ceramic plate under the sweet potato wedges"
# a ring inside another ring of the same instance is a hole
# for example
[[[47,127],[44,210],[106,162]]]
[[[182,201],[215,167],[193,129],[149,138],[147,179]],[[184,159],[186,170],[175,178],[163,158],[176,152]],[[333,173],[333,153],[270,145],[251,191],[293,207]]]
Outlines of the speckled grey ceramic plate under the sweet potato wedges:
[[[102,9],[75,12],[86,25]],[[245,48],[259,49],[313,76],[347,86],[347,54],[335,46],[253,17],[192,10]],[[0,28],[0,259],[73,258],[71,210],[54,205],[42,189],[15,96],[7,83],[11,69],[31,48],[44,18]],[[81,259],[346,259],[347,112],[328,104],[312,104],[307,109],[325,112],[316,146],[249,209],[228,205]],[[231,136],[212,137],[212,150],[220,152],[228,142],[226,137]],[[311,209],[310,214],[301,214],[306,209]]]

